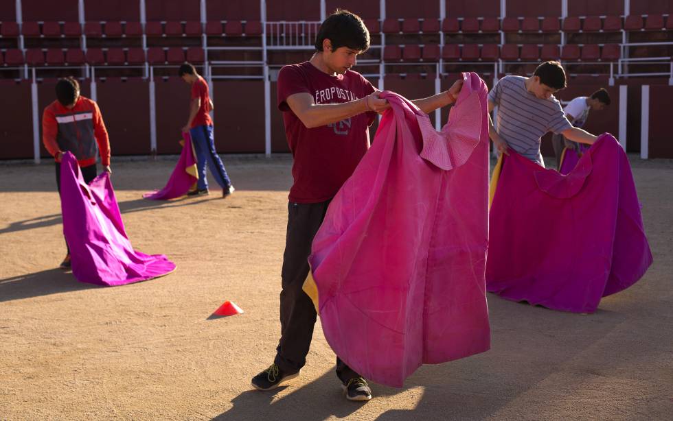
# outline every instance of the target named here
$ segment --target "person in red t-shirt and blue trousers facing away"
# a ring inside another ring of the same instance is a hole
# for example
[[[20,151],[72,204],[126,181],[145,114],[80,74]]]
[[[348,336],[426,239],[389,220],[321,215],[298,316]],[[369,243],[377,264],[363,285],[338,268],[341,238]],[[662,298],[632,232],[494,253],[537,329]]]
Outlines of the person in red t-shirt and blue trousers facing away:
[[[183,132],[189,132],[192,136],[192,145],[196,152],[196,169],[198,171],[198,181],[196,190],[187,193],[189,195],[207,195],[208,180],[205,175],[205,165],[208,163],[210,173],[222,187],[222,197],[227,197],[233,193],[234,189],[231,180],[227,175],[225,165],[215,150],[215,139],[213,137],[213,120],[208,112],[214,108],[213,101],[210,100],[207,82],[196,73],[194,66],[189,63],[183,64],[178,71],[182,80],[192,86],[192,102],[190,105],[190,118],[187,124],[182,128]]]

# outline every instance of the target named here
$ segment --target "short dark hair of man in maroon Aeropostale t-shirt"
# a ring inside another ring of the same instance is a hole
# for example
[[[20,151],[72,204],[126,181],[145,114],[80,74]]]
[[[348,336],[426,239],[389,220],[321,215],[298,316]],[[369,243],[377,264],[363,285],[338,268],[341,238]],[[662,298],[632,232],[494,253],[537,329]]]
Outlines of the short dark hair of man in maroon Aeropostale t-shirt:
[[[348,47],[358,51],[369,49],[369,31],[360,16],[348,10],[336,9],[323,21],[315,36],[315,49],[323,51],[323,41],[332,41],[332,51]]]

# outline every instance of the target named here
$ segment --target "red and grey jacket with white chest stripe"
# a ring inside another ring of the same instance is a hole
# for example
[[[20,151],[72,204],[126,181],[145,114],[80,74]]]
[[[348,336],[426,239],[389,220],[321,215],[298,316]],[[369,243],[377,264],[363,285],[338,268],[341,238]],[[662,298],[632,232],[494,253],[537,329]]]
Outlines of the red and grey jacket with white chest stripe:
[[[110,139],[98,104],[80,96],[73,108],[58,101],[49,104],[42,115],[42,141],[49,154],[72,152],[80,167],[96,162],[100,150],[102,165],[110,165]]]

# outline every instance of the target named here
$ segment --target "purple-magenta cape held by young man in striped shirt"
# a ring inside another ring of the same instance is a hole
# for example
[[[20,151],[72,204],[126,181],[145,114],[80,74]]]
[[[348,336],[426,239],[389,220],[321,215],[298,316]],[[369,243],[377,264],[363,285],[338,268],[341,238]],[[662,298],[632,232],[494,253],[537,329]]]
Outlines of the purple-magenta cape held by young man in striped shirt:
[[[490,209],[488,291],[593,313],[651,263],[628,158],[613,136],[602,134],[567,176],[510,149]]]

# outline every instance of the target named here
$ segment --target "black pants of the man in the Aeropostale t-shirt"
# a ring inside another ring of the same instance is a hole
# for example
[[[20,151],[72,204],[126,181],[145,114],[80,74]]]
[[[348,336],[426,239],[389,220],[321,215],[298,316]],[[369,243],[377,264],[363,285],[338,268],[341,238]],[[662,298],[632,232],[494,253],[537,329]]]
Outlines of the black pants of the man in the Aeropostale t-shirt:
[[[280,341],[275,363],[286,373],[296,373],[306,364],[317,314],[301,287],[308,276],[311,243],[325,218],[330,201],[288,204],[288,229],[283,254],[280,293]],[[343,383],[359,374],[336,357],[336,376]]]

